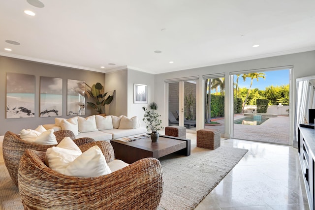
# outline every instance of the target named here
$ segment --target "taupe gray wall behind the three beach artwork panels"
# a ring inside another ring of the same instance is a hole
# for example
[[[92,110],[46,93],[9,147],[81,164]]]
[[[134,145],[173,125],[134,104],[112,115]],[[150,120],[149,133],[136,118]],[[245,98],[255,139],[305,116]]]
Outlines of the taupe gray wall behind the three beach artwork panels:
[[[5,119],[6,117],[6,73],[21,73],[35,75],[35,118],[21,118],[21,119]],[[67,93],[67,79],[82,80],[89,85],[96,82],[105,84],[105,74],[50,65],[45,63],[13,59],[0,56],[0,135],[4,135],[6,131],[19,133],[23,128],[35,129],[38,125],[55,123],[54,117],[39,117],[40,104],[40,76],[63,78],[63,113],[62,118],[70,118],[73,116],[66,116],[66,93]],[[106,90],[106,89],[105,89]],[[86,107],[86,115],[95,114],[95,111]]]

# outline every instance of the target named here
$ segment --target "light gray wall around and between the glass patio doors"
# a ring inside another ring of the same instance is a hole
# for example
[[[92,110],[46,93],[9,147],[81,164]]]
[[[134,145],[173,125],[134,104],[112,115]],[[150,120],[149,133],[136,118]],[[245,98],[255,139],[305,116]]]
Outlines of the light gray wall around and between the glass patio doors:
[[[233,117],[233,110],[231,110],[231,102],[230,102],[230,73],[236,71],[246,71],[253,70],[256,71],[258,69],[265,68],[274,68],[279,66],[293,66],[293,71],[291,75],[291,104],[290,104],[290,120],[291,122],[294,120],[294,109],[295,109],[295,79],[299,77],[305,77],[309,75],[314,75],[315,72],[315,51],[304,52],[304,53],[296,53],[284,56],[275,56],[264,59],[256,59],[256,60],[247,60],[241,62],[234,63],[226,63],[221,65],[214,66],[206,66],[201,68],[187,69],[182,71],[163,73],[155,75],[155,86],[158,87],[155,89],[155,100],[160,103],[165,104],[162,109],[159,110],[159,114],[162,115],[163,122],[168,121],[167,115],[167,102],[165,101],[165,89],[166,85],[164,80],[166,79],[174,79],[174,78],[183,78],[183,77],[191,77],[191,76],[199,76],[199,80],[197,80],[197,129],[201,129],[203,127],[203,75],[208,74],[218,74],[225,73],[225,134],[226,138],[232,137],[233,127],[231,121]],[[199,111],[198,111],[199,110]],[[291,127],[291,134],[293,132],[293,123]],[[164,124],[165,126],[165,124]],[[292,137],[291,139],[292,140]]]

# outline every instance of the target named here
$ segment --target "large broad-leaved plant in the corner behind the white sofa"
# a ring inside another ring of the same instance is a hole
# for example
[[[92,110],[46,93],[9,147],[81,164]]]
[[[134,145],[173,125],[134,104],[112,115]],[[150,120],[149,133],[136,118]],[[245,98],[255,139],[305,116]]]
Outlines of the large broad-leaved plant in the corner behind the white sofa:
[[[105,105],[110,104],[114,99],[114,91],[111,90],[108,92],[104,91],[104,86],[100,83],[95,83],[92,87],[85,83],[85,85],[89,88],[89,90],[86,90],[86,95],[88,96],[88,99],[92,98],[95,102],[87,102],[90,107],[95,109],[96,112],[98,112],[99,115],[106,116],[105,113]],[[107,93],[113,92],[112,95],[107,95]]]

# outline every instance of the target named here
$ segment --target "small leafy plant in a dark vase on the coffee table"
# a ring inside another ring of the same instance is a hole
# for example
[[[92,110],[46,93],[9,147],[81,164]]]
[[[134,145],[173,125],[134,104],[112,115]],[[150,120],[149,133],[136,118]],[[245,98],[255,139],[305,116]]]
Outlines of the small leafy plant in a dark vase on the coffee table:
[[[144,111],[143,121],[146,123],[146,128],[151,132],[151,140],[152,142],[158,141],[158,130],[163,129],[161,126],[162,120],[159,119],[161,117],[156,110],[158,109],[158,104],[156,102],[152,102],[149,104],[150,110],[146,107],[142,107]]]

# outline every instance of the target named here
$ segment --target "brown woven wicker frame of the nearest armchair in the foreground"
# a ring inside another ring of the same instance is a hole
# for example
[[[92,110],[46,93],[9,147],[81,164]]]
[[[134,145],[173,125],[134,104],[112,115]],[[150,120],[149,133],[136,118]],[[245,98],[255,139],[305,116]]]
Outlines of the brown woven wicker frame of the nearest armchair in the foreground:
[[[109,142],[97,141],[84,148],[94,145],[100,147],[106,161],[114,159]],[[26,150],[21,158],[18,180],[25,210],[156,210],[158,207],[163,173],[155,158],[144,158],[95,178],[59,174],[44,164],[44,158],[45,152],[35,150]]]

